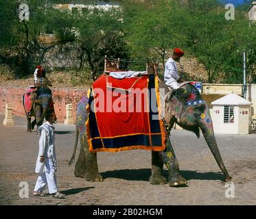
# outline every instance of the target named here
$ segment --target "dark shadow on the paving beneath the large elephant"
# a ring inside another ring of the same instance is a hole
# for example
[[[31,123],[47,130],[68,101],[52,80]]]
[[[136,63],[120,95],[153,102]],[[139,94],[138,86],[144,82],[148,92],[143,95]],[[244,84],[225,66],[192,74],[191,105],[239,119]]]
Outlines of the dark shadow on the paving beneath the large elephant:
[[[192,170],[181,170],[181,175],[187,181],[194,180],[224,180],[224,175],[220,172],[197,172]],[[126,179],[129,181],[149,181],[151,169],[137,169],[137,170],[112,170],[100,173],[104,179],[117,178]],[[167,170],[163,170],[163,176],[168,177]]]

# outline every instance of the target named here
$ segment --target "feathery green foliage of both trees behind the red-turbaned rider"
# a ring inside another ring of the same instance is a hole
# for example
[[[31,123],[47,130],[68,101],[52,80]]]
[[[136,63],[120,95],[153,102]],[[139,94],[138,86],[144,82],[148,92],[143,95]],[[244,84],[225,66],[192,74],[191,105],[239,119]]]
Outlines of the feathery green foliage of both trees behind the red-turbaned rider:
[[[248,70],[253,71],[256,34],[248,25],[244,5],[235,8],[235,21],[226,21],[224,5],[216,0],[150,2],[135,1],[124,7],[133,55],[160,58],[164,65],[167,52],[182,47],[185,55],[196,57],[205,66],[207,82],[242,83],[241,51],[251,49]]]

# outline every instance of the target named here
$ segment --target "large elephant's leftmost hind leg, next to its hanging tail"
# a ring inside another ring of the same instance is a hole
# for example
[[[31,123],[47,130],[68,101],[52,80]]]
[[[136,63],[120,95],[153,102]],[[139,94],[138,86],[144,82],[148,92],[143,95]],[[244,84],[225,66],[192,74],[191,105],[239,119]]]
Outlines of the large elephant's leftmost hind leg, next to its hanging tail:
[[[86,175],[86,155],[84,152],[84,146],[81,140],[80,153],[78,155],[78,161],[75,163],[75,177],[85,178]]]

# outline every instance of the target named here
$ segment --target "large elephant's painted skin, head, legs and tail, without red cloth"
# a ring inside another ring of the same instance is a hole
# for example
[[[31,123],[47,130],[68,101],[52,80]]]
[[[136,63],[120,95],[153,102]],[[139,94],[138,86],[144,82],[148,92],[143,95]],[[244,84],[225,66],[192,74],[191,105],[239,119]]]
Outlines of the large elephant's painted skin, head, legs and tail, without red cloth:
[[[162,85],[162,87],[164,86]],[[192,105],[192,103],[186,102],[189,97],[193,97],[193,103],[196,104],[195,101],[198,101],[198,104]],[[194,131],[199,137],[200,127],[207,140],[211,153],[213,153],[218,166],[220,166],[220,169],[224,173],[225,180],[230,181],[231,177],[229,177],[229,173],[226,171],[224,163],[222,162],[214,137],[209,107],[205,101],[201,99],[198,90],[196,90],[194,86],[187,84],[186,86],[183,86],[183,88],[168,92],[166,98],[166,112],[163,119],[165,123],[165,131],[170,131],[171,126],[176,122],[178,125],[181,125],[181,127],[184,127],[189,131]],[[89,146],[86,142],[85,121],[87,119],[87,112],[85,106],[87,103],[88,99],[85,96],[80,103],[78,103],[75,146],[69,164],[75,159],[75,151],[80,133],[81,148],[78,161],[75,164],[75,177],[85,177],[87,181],[103,181],[103,177],[98,172],[97,155],[96,153],[89,153]],[[186,185],[187,181],[179,172],[178,161],[172,148],[170,138],[167,138],[165,143],[166,147],[164,151],[152,151],[152,175],[150,176],[150,183],[155,185],[167,183],[167,179],[162,175],[163,164],[165,164],[169,174],[169,185]]]

